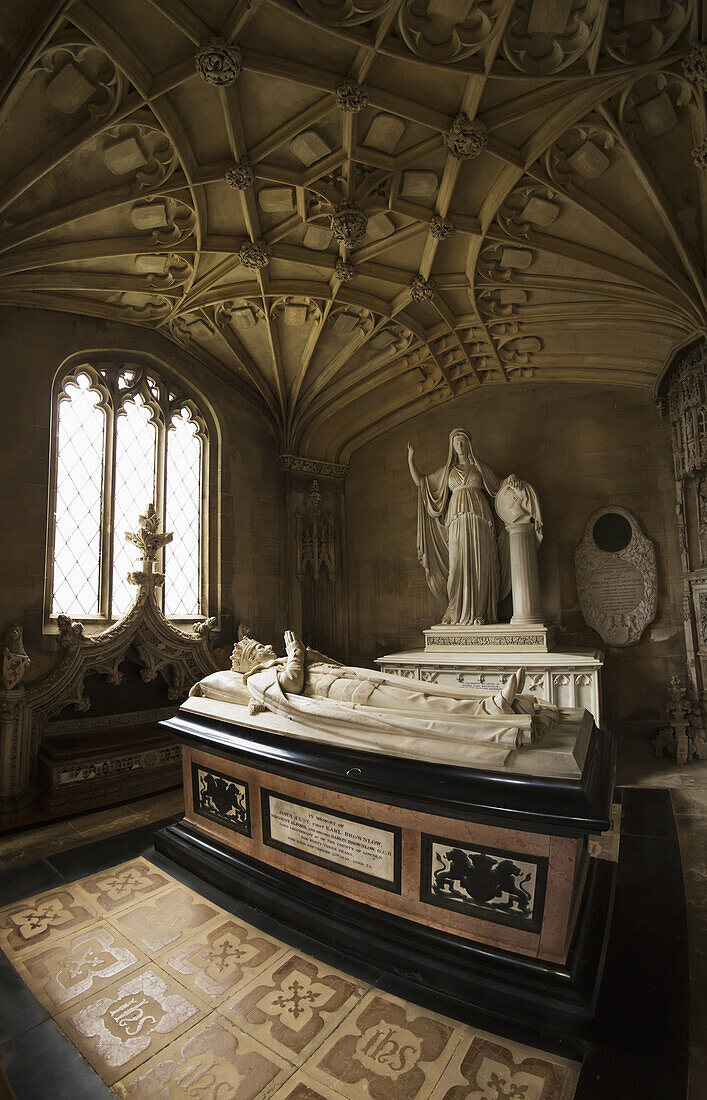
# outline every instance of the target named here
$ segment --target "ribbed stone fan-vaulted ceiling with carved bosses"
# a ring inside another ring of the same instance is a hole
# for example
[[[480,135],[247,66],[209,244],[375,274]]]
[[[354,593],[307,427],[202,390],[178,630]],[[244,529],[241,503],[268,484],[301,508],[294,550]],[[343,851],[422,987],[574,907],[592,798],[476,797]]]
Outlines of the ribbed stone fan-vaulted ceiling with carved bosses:
[[[650,386],[707,319],[698,19],[15,0],[0,302],[157,329],[332,462],[478,386]]]

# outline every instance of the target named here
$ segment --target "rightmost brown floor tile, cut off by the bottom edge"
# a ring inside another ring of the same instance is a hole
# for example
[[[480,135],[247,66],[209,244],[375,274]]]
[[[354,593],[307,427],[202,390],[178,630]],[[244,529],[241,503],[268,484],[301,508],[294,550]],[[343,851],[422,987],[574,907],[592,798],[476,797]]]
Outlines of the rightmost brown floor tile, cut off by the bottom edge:
[[[572,1100],[581,1066],[477,1032],[457,1047],[432,1100]]]

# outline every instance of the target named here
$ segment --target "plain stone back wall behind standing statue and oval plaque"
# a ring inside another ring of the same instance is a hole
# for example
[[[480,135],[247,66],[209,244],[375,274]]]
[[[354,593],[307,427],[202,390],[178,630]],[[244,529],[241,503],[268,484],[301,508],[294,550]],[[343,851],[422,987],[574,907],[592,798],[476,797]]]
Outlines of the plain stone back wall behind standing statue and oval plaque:
[[[605,714],[615,727],[662,721],[666,688],[684,672],[681,565],[667,424],[645,391],[523,383],[460,397],[357,451],[346,483],[351,660],[420,648],[441,609],[417,561],[416,490],[408,439],[421,471],[440,466],[449,431],[472,431],[478,458],[501,476],[517,473],[540,495],[540,548],[548,618],[560,646],[600,646],[579,610],[574,549],[592,513],[617,504],[633,512],[655,543],[658,615],[641,641],[606,654]]]

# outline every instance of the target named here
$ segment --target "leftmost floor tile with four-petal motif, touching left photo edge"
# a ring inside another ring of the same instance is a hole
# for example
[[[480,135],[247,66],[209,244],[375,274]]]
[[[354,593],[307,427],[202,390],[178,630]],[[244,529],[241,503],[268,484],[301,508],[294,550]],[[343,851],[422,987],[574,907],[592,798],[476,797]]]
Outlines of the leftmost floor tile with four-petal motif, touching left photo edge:
[[[98,910],[75,883],[0,910],[0,946],[12,958],[96,921]]]

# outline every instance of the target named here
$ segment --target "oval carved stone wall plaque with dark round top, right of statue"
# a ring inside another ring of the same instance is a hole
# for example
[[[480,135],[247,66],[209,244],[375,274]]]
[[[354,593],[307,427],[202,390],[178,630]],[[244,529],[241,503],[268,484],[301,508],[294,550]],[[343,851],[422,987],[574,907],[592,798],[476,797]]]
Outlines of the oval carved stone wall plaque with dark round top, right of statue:
[[[609,646],[633,646],[655,618],[655,549],[632,513],[595,512],[575,551],[579,606]]]

